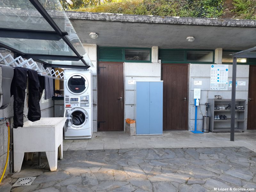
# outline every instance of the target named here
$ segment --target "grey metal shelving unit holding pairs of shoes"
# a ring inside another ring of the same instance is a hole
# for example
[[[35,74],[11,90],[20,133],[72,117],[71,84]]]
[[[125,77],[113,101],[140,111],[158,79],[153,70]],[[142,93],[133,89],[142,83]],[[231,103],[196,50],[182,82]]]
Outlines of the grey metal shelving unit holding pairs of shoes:
[[[208,108],[208,116],[210,116],[210,131],[212,132],[230,132],[231,111],[230,109],[214,109],[214,106],[227,107],[231,103],[231,99],[208,99],[210,104]],[[245,130],[245,112],[246,100],[236,99],[236,105],[244,106],[244,109],[235,110],[235,131],[244,132]],[[227,120],[214,120],[214,116],[226,115]]]

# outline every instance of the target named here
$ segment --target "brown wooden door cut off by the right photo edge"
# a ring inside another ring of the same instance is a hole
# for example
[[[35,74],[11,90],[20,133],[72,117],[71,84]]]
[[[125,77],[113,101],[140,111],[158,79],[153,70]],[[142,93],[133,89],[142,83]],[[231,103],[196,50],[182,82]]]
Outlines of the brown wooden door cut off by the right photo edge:
[[[256,66],[249,68],[247,129],[256,129]],[[251,100],[250,100],[251,99]]]

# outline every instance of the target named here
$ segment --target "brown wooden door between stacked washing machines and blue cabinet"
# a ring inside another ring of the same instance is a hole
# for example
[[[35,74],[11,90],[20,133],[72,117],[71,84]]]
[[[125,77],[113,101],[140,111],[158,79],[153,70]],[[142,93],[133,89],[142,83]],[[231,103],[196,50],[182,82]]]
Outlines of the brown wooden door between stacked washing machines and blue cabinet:
[[[99,63],[98,131],[124,130],[123,79],[123,63]]]

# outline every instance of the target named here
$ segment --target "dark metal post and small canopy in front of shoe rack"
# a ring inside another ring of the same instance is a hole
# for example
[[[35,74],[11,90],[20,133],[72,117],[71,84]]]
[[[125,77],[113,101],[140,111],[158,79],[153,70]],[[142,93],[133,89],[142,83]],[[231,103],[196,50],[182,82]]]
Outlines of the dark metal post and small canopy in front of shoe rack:
[[[230,141],[235,141],[235,106],[236,106],[236,64],[237,58],[256,58],[256,46],[244,51],[231,54],[233,57],[232,65],[232,93],[231,93],[231,129],[230,129]],[[252,54],[246,54],[252,53]]]

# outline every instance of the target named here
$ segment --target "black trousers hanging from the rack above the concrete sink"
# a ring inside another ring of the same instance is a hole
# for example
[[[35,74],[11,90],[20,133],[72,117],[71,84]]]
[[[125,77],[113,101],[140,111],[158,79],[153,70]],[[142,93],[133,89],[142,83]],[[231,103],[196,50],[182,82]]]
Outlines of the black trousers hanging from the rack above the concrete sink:
[[[39,104],[39,82],[37,72],[21,67],[14,68],[11,94],[13,95],[13,128],[23,127],[23,110],[28,74],[28,120],[37,121],[41,118]]]

